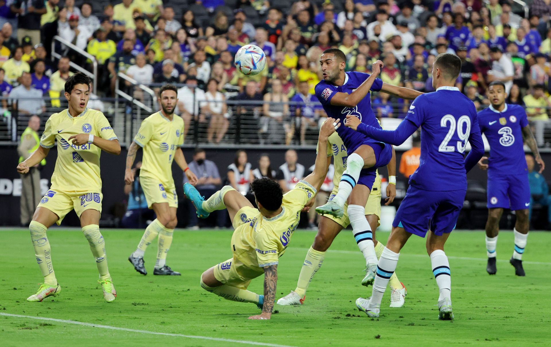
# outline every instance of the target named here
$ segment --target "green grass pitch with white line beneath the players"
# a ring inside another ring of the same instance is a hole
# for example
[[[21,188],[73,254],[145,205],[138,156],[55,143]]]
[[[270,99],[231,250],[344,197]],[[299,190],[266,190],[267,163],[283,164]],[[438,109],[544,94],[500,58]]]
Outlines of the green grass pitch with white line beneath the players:
[[[145,254],[149,274],[138,274],[128,262],[142,230],[102,230],[117,300],[106,303],[96,283],[98,273],[80,230],[48,232],[61,295],[44,302],[25,299],[42,280],[27,230],[1,230],[0,315],[24,315],[103,326],[179,334],[155,335],[82,326],[72,322],[0,316],[3,346],[233,346],[219,338],[291,346],[352,345],[548,345],[551,327],[551,233],[531,232],[524,256],[527,276],[518,278],[508,263],[512,232],[501,232],[498,273],[485,272],[482,231],[455,231],[447,241],[452,273],[454,321],[437,319],[438,290],[424,240],[412,236],[401,252],[398,278],[407,286],[406,305],[390,308],[383,298],[381,317],[370,319],[354,301],[369,296],[360,285],[363,257],[349,230],[333,242],[312,281],[305,305],[277,306],[271,321],[250,321],[260,313],[251,303],[230,302],[199,286],[199,275],[231,256],[231,231],[176,231],[167,264],[182,276],[154,276],[156,244]],[[280,259],[277,298],[294,289],[312,231],[295,232]],[[378,232],[386,241],[388,233]],[[262,292],[260,277],[250,289]],[[276,298],[276,299],[277,299]]]

